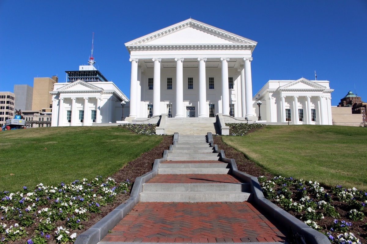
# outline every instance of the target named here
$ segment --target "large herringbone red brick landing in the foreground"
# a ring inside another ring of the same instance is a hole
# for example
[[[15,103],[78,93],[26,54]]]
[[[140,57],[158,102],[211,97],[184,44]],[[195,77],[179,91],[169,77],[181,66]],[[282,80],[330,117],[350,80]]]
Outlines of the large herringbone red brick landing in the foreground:
[[[249,202],[139,202],[102,241],[224,243],[285,241]]]

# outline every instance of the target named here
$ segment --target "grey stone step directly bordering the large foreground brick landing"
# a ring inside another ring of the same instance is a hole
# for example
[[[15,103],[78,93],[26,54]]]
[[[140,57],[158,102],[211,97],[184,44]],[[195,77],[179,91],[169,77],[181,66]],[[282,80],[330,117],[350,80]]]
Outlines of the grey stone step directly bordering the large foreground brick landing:
[[[244,202],[248,192],[142,192],[141,202]]]

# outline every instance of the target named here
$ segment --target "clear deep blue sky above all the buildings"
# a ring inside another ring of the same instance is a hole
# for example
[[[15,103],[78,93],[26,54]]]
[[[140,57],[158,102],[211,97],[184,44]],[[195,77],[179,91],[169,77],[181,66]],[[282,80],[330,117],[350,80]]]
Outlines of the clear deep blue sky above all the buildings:
[[[332,105],[349,90],[367,101],[367,1],[0,0],[0,91],[87,64],[130,97],[125,42],[188,18],[258,44],[255,94],[270,79],[329,80]]]

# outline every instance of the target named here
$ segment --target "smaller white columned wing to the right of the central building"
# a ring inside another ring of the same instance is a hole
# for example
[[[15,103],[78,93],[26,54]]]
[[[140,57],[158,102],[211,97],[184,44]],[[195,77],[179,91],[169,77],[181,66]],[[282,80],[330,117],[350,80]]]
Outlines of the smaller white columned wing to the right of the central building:
[[[332,125],[328,80],[269,80],[254,96],[261,101],[261,118],[268,123]]]

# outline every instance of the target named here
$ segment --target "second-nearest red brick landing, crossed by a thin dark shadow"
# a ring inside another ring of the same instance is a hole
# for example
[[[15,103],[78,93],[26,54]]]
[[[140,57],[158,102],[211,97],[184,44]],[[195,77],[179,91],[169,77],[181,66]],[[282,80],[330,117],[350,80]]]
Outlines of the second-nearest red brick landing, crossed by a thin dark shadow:
[[[230,174],[158,174],[147,183],[241,183]]]

